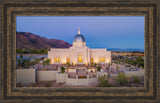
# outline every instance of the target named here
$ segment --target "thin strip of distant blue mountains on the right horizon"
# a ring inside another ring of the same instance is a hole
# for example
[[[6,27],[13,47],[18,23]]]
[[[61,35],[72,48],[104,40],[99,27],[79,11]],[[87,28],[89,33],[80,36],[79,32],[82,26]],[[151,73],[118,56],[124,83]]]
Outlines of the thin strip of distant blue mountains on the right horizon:
[[[138,49],[138,48],[126,48],[126,49],[121,49],[121,48],[108,48],[108,51],[137,51],[137,52],[144,52],[144,49]]]

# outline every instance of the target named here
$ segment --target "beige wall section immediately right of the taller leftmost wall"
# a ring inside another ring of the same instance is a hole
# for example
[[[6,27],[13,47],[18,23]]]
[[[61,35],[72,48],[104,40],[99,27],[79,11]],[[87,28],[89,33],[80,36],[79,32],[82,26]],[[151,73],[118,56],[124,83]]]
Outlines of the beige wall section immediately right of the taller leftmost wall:
[[[37,71],[37,81],[52,81],[56,80],[58,71]]]

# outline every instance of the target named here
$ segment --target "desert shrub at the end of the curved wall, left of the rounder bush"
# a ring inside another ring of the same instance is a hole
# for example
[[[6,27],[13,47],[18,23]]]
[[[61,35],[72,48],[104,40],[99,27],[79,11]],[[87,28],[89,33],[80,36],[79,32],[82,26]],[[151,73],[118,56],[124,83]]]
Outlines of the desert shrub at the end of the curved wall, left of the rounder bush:
[[[99,87],[112,87],[113,85],[110,84],[106,78],[106,76],[101,76],[101,77],[98,77],[98,86]]]

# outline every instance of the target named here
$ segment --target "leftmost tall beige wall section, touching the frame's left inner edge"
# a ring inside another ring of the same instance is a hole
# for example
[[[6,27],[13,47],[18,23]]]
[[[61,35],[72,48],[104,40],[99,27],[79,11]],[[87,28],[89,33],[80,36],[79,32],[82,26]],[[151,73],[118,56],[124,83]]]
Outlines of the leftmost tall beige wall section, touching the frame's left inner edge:
[[[17,83],[35,83],[35,69],[16,69]]]

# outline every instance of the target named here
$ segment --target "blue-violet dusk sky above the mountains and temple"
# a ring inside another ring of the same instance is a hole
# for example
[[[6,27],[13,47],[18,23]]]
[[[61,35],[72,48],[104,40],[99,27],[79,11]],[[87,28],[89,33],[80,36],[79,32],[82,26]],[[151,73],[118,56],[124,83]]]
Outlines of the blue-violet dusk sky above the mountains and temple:
[[[17,31],[72,44],[80,27],[90,48],[144,49],[144,16],[17,16]]]

